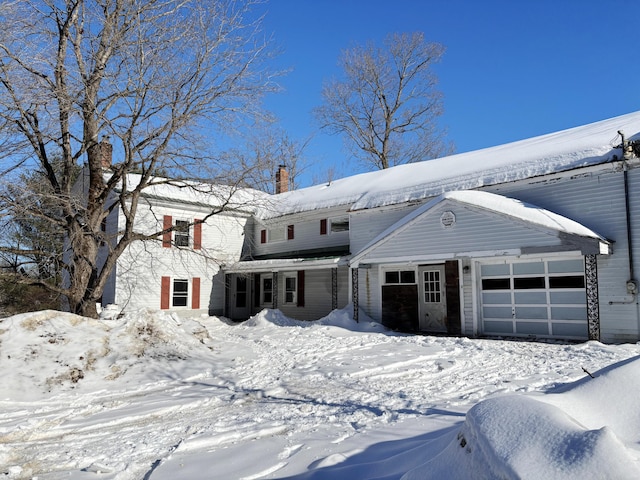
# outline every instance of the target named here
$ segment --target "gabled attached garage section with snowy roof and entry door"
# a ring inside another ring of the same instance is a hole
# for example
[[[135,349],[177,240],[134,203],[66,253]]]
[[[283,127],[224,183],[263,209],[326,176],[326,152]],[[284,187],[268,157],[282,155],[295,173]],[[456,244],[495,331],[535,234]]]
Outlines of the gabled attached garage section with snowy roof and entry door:
[[[408,214],[350,266],[356,277],[379,270],[379,313],[367,313],[393,328],[586,340],[599,338],[597,257],[609,253],[607,239],[569,218],[462,191]],[[354,309],[358,291],[371,292],[358,287]]]

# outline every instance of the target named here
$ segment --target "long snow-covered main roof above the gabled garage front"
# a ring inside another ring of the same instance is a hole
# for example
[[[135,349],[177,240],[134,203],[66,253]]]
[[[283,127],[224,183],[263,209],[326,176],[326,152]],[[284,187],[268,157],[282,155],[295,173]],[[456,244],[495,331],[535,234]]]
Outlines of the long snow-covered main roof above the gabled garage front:
[[[622,130],[640,136],[640,112],[589,125],[425,162],[293,190],[277,195],[275,208],[262,218],[349,205],[351,210],[375,208],[435,197],[549,173],[609,162],[621,157],[616,147]]]

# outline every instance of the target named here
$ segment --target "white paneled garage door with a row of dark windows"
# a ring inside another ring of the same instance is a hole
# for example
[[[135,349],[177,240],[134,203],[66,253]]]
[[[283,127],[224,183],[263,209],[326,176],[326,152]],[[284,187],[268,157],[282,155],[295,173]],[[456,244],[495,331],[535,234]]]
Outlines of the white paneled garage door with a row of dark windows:
[[[480,265],[486,335],[588,337],[583,257]]]

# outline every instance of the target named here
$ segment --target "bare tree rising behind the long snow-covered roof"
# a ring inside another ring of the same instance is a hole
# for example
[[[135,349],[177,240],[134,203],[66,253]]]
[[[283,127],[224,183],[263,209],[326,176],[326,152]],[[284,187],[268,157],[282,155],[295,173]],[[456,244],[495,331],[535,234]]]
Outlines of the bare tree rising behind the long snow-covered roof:
[[[317,119],[343,135],[356,158],[379,169],[451,153],[436,123],[442,95],[431,68],[443,53],[422,33],[389,35],[383,48],[343,51],[344,79],[324,85]]]

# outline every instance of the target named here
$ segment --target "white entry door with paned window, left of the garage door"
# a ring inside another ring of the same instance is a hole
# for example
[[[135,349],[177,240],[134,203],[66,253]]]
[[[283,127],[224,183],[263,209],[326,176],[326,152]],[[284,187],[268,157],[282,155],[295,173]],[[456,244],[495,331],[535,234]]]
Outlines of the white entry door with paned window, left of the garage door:
[[[444,265],[425,265],[418,268],[420,292],[420,330],[447,331],[447,296]]]

